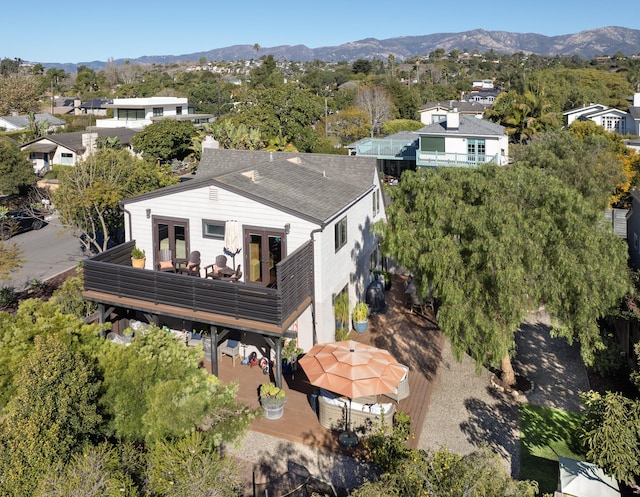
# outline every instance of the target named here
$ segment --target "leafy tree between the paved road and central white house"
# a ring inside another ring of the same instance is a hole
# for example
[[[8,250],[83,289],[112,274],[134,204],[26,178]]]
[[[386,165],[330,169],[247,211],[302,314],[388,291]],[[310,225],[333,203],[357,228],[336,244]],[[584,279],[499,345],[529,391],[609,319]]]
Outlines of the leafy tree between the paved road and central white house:
[[[118,202],[176,182],[165,166],[145,162],[127,150],[101,148],[60,173],[54,203],[60,222],[73,229],[88,252],[102,252],[119,240],[124,221]]]

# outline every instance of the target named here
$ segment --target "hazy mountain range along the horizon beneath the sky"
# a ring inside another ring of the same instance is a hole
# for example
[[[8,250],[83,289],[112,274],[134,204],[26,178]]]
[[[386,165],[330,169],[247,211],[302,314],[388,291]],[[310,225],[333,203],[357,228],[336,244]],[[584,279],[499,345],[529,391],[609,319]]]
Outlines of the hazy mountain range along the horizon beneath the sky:
[[[117,59],[116,65],[124,64],[172,64],[176,62],[197,62],[202,57],[209,61],[250,60],[262,55],[273,55],[277,60],[310,62],[353,62],[358,59],[386,60],[393,55],[402,61],[416,55],[428,55],[442,48],[461,52],[512,54],[523,52],[538,55],[577,55],[592,59],[599,55],[622,53],[634,55],[640,53],[640,30],[610,26],[581,31],[576,34],[545,36],[536,33],[510,33],[507,31],[485,31],[474,29],[462,33],[435,33],[423,36],[401,36],[378,40],[366,38],[333,47],[309,48],[305,45],[281,45],[260,47],[254,45],[233,45],[204,52],[184,55],[149,55],[136,59]],[[103,69],[106,61],[82,62],[94,70]],[[75,72],[76,64],[43,63],[45,67],[60,67],[67,72]]]

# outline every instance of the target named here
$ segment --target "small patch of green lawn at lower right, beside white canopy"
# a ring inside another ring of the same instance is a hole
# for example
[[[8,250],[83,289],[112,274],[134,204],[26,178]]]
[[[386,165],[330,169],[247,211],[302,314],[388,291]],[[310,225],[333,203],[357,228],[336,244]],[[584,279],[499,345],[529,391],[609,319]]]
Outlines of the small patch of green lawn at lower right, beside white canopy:
[[[536,480],[539,494],[558,487],[558,456],[583,460],[576,440],[580,414],[523,404],[520,408],[520,479]]]

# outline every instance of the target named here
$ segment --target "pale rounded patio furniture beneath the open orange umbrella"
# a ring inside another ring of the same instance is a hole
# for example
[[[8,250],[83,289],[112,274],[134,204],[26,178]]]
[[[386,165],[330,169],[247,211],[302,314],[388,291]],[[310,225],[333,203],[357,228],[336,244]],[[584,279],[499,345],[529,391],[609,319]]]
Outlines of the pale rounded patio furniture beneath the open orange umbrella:
[[[356,399],[360,400],[360,399]],[[349,399],[339,397],[327,390],[320,390],[318,395],[318,421],[330,430],[344,430],[345,419],[349,409]],[[387,433],[393,427],[393,416],[396,407],[393,403],[361,404],[351,401],[351,430],[361,433],[371,433],[384,420]]]

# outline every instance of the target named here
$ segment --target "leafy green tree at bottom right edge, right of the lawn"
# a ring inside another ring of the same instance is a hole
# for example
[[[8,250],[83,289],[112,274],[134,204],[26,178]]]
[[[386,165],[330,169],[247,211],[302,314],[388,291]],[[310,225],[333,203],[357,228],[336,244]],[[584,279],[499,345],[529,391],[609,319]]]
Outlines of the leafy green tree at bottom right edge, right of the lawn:
[[[636,486],[640,477],[640,401],[619,393],[582,394],[585,405],[581,440],[587,459],[607,474]]]

